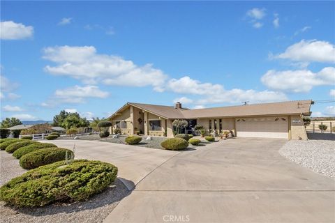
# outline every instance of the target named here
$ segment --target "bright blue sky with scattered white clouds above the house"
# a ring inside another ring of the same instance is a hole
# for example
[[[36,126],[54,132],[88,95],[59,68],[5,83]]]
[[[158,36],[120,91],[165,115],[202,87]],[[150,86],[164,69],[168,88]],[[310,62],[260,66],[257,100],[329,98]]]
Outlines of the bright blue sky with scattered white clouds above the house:
[[[1,1],[1,118],[334,100],[335,3]],[[334,103],[314,116],[335,116]]]

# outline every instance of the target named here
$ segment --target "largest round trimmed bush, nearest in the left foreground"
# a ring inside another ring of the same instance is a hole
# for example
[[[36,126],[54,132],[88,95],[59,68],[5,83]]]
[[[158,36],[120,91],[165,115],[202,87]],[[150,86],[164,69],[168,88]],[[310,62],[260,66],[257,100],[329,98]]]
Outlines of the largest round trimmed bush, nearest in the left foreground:
[[[73,160],[48,164],[13,178],[0,188],[0,199],[19,207],[45,206],[57,201],[84,201],[111,185],[117,167],[107,162]]]

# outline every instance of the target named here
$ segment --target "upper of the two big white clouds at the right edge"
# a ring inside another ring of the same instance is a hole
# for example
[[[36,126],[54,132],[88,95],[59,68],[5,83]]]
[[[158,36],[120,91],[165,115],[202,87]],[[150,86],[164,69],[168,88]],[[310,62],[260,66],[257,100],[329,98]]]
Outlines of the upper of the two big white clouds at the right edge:
[[[335,47],[332,43],[319,40],[301,40],[288,47],[274,59],[289,59],[304,63],[335,63]]]

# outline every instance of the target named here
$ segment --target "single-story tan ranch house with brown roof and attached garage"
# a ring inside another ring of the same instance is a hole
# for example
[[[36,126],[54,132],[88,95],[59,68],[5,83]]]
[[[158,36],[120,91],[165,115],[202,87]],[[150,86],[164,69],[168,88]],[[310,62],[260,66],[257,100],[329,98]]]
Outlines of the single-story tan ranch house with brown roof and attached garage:
[[[297,100],[187,109],[180,102],[175,106],[128,102],[108,119],[112,122],[111,134],[119,129],[122,134],[140,132],[173,137],[172,122],[185,119],[188,121],[187,133],[191,133],[195,125],[202,125],[207,133],[230,130],[235,137],[307,139],[302,117],[311,116],[312,104],[312,100]]]

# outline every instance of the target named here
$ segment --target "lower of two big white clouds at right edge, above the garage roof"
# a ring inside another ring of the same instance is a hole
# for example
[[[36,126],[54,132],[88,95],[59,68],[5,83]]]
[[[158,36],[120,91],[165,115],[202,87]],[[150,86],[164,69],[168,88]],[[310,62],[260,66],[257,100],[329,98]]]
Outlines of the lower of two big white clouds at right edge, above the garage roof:
[[[327,67],[314,73],[311,70],[268,70],[261,81],[269,89],[294,93],[311,91],[313,86],[335,83],[335,68]]]

